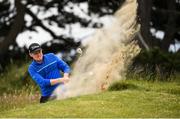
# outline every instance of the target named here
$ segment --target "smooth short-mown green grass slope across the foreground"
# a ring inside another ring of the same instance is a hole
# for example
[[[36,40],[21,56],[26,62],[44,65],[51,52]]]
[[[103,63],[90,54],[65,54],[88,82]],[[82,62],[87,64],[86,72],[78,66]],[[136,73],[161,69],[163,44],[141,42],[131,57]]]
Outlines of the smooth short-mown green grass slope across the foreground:
[[[180,117],[180,83],[126,80],[128,85],[93,95],[32,104],[0,112],[0,117]]]

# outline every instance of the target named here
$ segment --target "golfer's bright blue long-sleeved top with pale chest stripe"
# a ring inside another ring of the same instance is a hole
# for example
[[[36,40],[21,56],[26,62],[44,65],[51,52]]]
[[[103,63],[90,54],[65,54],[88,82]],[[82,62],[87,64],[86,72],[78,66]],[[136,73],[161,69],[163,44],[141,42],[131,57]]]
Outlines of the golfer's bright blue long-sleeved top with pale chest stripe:
[[[70,67],[53,53],[44,54],[43,62],[33,61],[28,68],[32,79],[39,85],[42,96],[50,96],[54,89],[59,85],[50,84],[50,79],[62,77],[60,71],[70,72]]]

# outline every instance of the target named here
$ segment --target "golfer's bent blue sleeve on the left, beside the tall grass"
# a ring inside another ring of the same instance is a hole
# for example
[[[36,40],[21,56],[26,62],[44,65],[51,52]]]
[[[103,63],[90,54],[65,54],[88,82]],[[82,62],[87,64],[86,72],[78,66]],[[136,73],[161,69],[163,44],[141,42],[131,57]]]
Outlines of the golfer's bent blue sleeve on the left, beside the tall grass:
[[[28,72],[29,72],[30,76],[32,77],[32,79],[33,79],[40,87],[44,87],[44,86],[49,86],[49,85],[51,85],[50,79],[44,79],[38,72],[36,72],[36,71],[34,70],[33,67],[29,67]]]

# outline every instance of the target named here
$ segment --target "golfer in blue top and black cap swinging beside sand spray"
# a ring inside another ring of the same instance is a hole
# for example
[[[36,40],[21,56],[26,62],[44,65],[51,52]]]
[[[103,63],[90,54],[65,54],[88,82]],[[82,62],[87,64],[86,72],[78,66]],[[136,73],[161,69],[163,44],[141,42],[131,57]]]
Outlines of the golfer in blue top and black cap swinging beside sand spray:
[[[53,53],[43,54],[38,43],[29,46],[29,55],[33,61],[28,72],[40,87],[40,103],[45,103],[54,97],[52,93],[58,85],[69,81],[70,67]],[[63,72],[62,75],[60,71]]]

